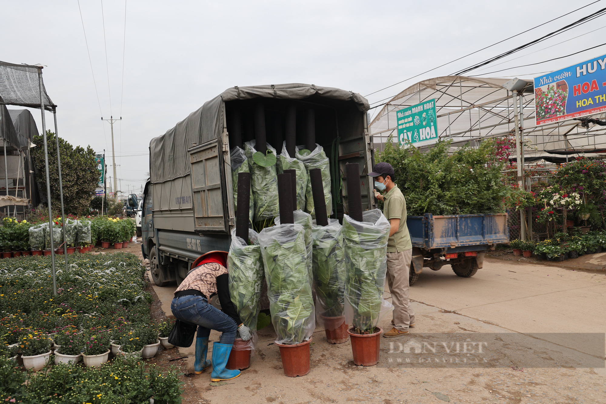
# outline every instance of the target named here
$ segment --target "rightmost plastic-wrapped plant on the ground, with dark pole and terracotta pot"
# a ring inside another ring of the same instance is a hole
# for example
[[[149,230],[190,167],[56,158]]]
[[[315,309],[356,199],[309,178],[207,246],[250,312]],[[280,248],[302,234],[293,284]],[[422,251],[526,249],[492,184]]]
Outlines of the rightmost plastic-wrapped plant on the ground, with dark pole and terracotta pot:
[[[347,178],[359,178],[359,165],[347,164]],[[359,181],[348,181],[350,215],[344,215],[343,250],[345,257],[345,305],[353,314],[350,319],[353,362],[373,366],[379,360],[382,329],[379,319],[393,309],[383,300],[387,272],[387,239],[390,224],[381,210],[362,212]],[[349,324],[349,323],[348,323]]]

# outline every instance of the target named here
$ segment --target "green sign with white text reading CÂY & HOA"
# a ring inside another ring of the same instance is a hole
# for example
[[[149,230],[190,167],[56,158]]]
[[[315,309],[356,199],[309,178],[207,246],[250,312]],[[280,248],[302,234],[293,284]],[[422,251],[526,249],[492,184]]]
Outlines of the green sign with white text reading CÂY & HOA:
[[[396,116],[400,144],[438,140],[435,98],[401,109]]]

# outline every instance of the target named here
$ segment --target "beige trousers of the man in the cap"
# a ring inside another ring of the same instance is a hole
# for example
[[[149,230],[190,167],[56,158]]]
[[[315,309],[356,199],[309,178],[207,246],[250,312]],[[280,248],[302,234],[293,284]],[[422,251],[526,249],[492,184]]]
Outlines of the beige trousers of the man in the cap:
[[[415,323],[415,312],[408,301],[408,271],[413,249],[387,253],[387,284],[393,304],[393,322],[400,331],[407,331]]]

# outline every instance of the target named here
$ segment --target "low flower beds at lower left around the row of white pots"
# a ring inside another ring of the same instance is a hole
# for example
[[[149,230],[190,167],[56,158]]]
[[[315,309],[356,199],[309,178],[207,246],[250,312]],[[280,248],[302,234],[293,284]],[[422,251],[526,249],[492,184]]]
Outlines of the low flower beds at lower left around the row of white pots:
[[[58,260],[57,268],[62,268]],[[75,255],[70,258],[68,272],[58,269],[56,273],[55,296],[50,257],[0,261],[0,400],[11,396],[19,397],[17,402],[31,402],[27,398],[33,397],[30,395],[48,397],[57,393],[64,398],[58,397],[56,402],[144,402],[150,397],[160,402],[180,402],[176,372],[161,375],[156,368],[146,369],[141,359],[139,363],[115,359],[101,368],[55,365],[36,375],[3,367],[4,359],[15,353],[48,352],[49,338],[61,345],[58,352],[66,355],[107,352],[110,337],[122,340],[130,332],[135,334],[133,339],[139,338],[135,339],[138,345],[152,340],[155,343],[158,331],[151,322],[151,295],[144,292],[144,271],[133,254]],[[7,348],[15,343],[18,345]],[[28,383],[7,384],[4,377],[28,378]],[[4,386],[12,386],[12,390]],[[47,389],[53,389],[52,394]]]

